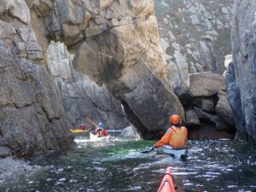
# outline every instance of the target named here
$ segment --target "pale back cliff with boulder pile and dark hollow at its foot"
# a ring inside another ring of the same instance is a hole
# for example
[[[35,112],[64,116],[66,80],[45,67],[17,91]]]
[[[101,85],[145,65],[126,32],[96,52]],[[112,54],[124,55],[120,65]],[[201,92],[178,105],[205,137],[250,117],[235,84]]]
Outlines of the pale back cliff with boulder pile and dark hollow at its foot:
[[[192,138],[234,137],[236,131],[222,76],[231,53],[232,6],[232,0],[154,1],[167,80],[183,104]]]

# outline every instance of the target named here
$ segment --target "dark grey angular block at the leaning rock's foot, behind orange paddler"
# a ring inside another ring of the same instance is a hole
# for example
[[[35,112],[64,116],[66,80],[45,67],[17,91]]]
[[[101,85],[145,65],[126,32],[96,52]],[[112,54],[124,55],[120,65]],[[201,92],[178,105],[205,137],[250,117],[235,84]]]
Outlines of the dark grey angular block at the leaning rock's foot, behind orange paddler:
[[[141,80],[137,87],[122,94],[121,97],[146,130],[152,132],[149,134],[151,137],[155,137],[154,131],[165,130],[168,127],[168,119],[172,113],[183,116],[183,107],[177,96],[172,93],[168,84],[162,83],[154,75]],[[140,128],[137,129],[140,131]],[[143,137],[145,135],[146,133]]]

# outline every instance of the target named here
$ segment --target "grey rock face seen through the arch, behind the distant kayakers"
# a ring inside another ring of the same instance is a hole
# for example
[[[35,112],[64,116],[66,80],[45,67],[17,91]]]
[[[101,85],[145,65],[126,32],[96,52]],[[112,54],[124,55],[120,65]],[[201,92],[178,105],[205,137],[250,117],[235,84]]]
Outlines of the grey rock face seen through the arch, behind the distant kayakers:
[[[49,69],[61,91],[67,119],[73,127],[84,124],[94,127],[86,117],[102,122],[108,129],[121,129],[129,125],[121,103],[113,98],[105,86],[98,86],[87,75],[73,69],[73,55],[64,44],[51,42],[48,49]]]

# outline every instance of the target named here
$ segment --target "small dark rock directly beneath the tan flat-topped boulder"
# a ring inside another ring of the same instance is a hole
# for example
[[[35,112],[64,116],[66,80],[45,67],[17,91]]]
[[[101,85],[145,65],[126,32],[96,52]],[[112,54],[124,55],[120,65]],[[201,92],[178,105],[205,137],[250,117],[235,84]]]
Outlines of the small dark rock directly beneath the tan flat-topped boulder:
[[[214,98],[195,98],[192,105],[201,108],[203,111],[214,112]]]

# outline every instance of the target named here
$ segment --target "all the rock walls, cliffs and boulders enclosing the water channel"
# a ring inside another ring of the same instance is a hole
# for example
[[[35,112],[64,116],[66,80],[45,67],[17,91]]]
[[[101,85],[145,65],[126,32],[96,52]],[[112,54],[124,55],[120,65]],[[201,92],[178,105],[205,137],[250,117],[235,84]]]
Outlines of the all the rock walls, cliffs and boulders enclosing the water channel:
[[[256,138],[256,2],[2,0],[0,159],[73,147],[86,118],[159,139]],[[230,38],[231,37],[231,38]]]

